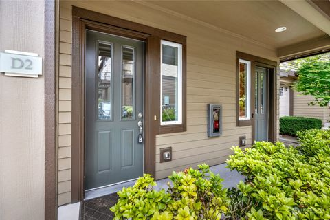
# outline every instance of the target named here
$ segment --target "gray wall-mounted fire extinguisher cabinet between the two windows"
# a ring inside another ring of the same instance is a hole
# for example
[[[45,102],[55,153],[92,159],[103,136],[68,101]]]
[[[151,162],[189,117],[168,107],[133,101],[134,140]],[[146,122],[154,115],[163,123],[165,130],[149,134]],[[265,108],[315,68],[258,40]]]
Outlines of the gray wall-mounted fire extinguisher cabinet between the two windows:
[[[221,104],[208,104],[208,137],[222,134]]]

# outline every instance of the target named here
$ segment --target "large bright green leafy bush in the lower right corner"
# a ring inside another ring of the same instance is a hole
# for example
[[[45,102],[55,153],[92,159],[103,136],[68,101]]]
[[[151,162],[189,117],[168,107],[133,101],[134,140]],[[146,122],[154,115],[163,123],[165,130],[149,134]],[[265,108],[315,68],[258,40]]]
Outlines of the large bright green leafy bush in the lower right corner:
[[[330,153],[329,149],[322,150],[324,138],[329,140],[329,132],[299,133],[305,144],[300,149],[286,148],[281,142],[256,142],[244,151],[233,147],[234,155],[227,161],[228,166],[247,179],[245,183],[240,182],[238,190],[228,192],[231,199],[236,198],[236,203],[243,203],[243,206],[234,206],[232,199],[231,217],[330,219]],[[322,143],[317,145],[307,140],[310,135],[316,135]],[[314,157],[307,157],[313,144],[317,145]]]

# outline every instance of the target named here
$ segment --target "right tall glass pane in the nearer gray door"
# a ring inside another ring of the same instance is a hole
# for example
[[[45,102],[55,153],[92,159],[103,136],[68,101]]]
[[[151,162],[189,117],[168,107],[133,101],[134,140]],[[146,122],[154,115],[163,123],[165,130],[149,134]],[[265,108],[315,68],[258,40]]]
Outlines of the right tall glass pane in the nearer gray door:
[[[134,118],[134,84],[135,84],[134,48],[122,47],[122,119]]]

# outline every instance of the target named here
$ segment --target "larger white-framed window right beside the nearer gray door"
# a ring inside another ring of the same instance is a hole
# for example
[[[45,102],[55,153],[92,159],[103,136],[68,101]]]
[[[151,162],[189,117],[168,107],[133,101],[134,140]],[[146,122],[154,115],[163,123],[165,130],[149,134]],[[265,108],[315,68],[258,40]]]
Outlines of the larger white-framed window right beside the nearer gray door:
[[[161,125],[182,123],[182,45],[161,41]]]

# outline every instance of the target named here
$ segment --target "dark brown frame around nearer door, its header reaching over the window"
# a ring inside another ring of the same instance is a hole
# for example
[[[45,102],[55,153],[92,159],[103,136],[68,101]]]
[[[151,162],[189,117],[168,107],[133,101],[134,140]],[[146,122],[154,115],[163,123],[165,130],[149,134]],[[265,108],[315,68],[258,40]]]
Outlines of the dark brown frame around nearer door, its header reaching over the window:
[[[186,36],[82,8],[72,8],[72,202],[85,197],[85,30],[142,40],[144,71],[144,173],[155,176],[155,136],[160,115],[160,40],[181,43]],[[186,50],[183,51],[184,58]],[[184,85],[183,85],[184,87]]]

